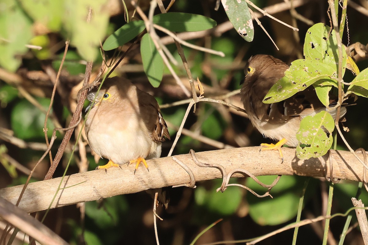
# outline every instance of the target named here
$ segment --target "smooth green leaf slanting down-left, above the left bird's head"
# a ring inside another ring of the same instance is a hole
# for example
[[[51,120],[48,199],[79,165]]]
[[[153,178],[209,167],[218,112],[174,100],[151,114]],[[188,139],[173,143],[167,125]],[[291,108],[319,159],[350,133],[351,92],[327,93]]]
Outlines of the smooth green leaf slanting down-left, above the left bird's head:
[[[146,28],[144,21],[131,21],[119,29],[117,29],[112,35],[107,37],[103,43],[103,50],[112,50],[119,46],[123,46],[125,43],[138,36]]]

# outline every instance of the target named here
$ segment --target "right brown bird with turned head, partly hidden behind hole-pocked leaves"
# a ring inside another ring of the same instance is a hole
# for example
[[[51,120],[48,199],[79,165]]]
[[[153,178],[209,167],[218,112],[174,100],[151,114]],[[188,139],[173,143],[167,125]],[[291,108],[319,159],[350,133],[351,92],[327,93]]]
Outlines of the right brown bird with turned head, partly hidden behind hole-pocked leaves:
[[[291,147],[298,145],[296,133],[301,119],[326,110],[312,86],[281,102],[273,104],[262,102],[273,84],[284,76],[288,68],[289,65],[271,55],[255,55],[245,66],[245,79],[240,90],[244,109],[254,127],[263,136],[279,140],[276,144],[261,144],[265,147],[262,150],[278,150],[281,159],[283,158],[280,148],[283,144],[287,143]],[[330,103],[333,105],[334,101],[330,100]],[[333,111],[329,113],[336,114]],[[340,117],[345,113],[346,108],[342,107]]]

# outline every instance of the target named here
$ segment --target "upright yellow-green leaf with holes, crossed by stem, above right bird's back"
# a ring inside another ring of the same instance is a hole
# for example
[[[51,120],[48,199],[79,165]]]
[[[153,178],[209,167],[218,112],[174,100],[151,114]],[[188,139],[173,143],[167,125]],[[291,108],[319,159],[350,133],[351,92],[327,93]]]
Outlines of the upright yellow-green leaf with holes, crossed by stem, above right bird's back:
[[[304,40],[304,56],[306,60],[316,60],[335,69],[339,64],[339,51],[335,32],[323,23],[317,23],[308,29]],[[346,68],[346,51],[343,51],[343,75]]]

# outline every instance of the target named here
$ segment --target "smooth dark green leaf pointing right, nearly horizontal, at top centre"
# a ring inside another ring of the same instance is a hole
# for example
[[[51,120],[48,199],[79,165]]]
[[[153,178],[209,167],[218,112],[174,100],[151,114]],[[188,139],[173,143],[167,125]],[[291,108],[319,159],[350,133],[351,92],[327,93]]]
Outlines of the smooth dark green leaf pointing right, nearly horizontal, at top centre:
[[[198,32],[216,26],[216,21],[198,14],[168,12],[153,17],[153,23],[171,32]]]

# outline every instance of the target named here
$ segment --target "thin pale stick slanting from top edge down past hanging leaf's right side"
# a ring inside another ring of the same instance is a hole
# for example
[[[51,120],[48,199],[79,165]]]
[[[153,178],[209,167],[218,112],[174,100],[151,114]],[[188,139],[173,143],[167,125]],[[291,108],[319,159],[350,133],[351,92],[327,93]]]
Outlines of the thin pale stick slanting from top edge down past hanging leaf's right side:
[[[153,8],[152,6],[154,6],[154,4],[156,3],[156,1],[151,1],[151,7],[150,10]],[[162,47],[160,46],[159,42],[159,38],[155,32],[155,29],[153,28],[153,24],[151,26],[151,22],[149,21],[149,19],[146,17],[146,15],[144,14],[144,12],[141,10],[141,8],[137,5],[137,3],[135,3],[134,0],[131,1],[131,4],[135,7],[135,9],[137,10],[138,14],[141,16],[142,20],[144,21],[144,24],[146,26],[146,29],[148,30],[148,33],[151,35],[152,41],[156,46],[157,51],[159,52],[160,56],[162,57],[163,62],[165,63],[165,65],[167,66],[167,68],[169,69],[171,75],[173,75],[176,83],[180,86],[180,88],[184,91],[186,96],[190,96],[190,93],[188,92],[187,88],[185,88],[184,84],[181,82],[180,78],[178,77],[178,75],[176,74],[176,72],[174,71],[173,67],[171,66],[171,64],[169,63],[169,61],[167,60],[166,55],[164,55],[163,51],[162,51]],[[153,11],[150,11],[153,13]]]

